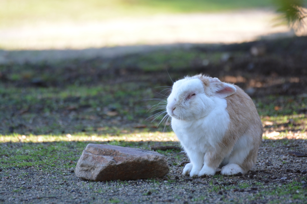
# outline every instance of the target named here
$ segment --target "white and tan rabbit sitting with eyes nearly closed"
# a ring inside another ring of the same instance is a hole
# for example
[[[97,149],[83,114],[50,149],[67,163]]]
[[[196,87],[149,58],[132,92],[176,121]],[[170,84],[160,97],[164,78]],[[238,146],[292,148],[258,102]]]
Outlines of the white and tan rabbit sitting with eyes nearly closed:
[[[173,84],[167,98],[172,128],[190,162],[190,176],[247,173],[257,161],[262,123],[251,98],[238,86],[204,75]]]

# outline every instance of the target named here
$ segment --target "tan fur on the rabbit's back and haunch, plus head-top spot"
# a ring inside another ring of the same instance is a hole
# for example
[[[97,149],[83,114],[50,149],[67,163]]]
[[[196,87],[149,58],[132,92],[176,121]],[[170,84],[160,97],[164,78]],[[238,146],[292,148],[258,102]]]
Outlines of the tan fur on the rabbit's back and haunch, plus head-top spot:
[[[205,86],[209,86],[209,77],[198,76]],[[233,84],[231,84],[233,85]],[[235,86],[235,85],[233,85]],[[228,97],[227,111],[230,117],[227,132],[222,141],[217,147],[212,147],[205,155],[205,162],[213,168],[217,168],[223,161],[224,157],[231,155],[231,150],[235,146],[238,139],[243,134],[250,134],[253,148],[247,154],[247,157],[242,161],[242,169],[248,171],[257,161],[258,148],[262,140],[262,123],[259,118],[255,104],[251,98],[238,86],[235,86],[237,91]]]

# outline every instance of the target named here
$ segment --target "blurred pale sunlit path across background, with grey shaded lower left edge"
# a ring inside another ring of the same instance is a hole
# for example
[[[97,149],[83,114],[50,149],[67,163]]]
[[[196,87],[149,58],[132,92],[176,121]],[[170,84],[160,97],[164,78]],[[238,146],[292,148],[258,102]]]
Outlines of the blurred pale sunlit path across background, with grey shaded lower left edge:
[[[63,22],[6,28],[0,29],[2,48],[36,51],[0,50],[0,63],[112,57],[168,47],[140,45],[240,43],[253,41],[261,36],[293,36],[294,33],[287,26],[274,26],[276,18],[277,15],[270,10],[252,10],[212,14],[169,14],[84,24]]]

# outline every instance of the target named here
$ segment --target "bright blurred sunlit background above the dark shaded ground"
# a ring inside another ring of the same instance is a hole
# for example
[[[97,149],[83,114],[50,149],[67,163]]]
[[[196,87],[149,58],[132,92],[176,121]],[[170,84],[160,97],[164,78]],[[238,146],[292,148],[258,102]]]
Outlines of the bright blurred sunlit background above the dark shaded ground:
[[[0,48],[63,50],[239,43],[304,35],[305,29],[293,30],[285,24],[286,18],[290,17],[292,22],[300,17],[289,13],[291,5],[304,6],[304,3],[300,0],[1,0]]]

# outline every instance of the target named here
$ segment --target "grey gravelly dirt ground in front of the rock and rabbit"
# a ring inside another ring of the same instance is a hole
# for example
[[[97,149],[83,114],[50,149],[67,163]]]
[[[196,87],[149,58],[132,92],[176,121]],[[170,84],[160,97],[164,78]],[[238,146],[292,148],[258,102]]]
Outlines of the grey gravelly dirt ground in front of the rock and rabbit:
[[[20,145],[6,144],[14,148]],[[75,144],[71,142],[70,146]],[[170,171],[157,179],[91,182],[63,167],[11,167],[0,172],[4,175],[0,180],[0,203],[305,203],[306,159],[293,157],[289,151],[306,152],[305,140],[267,139],[261,144],[252,171],[236,176],[217,172],[206,178],[183,176],[183,166],[177,162],[187,158],[178,151],[162,153],[167,156]]]

